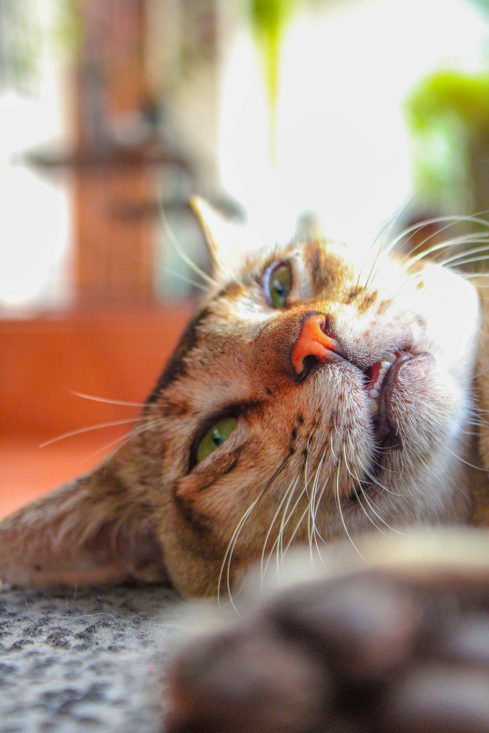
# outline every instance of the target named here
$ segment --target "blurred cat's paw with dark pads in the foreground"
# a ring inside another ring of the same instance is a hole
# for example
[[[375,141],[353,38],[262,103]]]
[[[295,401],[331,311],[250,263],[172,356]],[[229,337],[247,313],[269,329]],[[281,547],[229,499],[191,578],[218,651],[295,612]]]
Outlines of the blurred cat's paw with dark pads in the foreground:
[[[489,572],[294,586],[184,649],[170,688],[171,733],[487,733]]]

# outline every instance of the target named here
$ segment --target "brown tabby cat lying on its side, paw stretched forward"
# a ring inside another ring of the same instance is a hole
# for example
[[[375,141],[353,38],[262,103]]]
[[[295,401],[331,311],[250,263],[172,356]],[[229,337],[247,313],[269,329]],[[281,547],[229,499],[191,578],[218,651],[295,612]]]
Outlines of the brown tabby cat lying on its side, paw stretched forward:
[[[362,254],[328,239],[254,251],[191,205],[213,258],[198,312],[122,448],[0,523],[1,578],[156,581],[232,600],[249,567],[261,583],[306,545],[301,583],[181,652],[169,731],[487,730],[480,654],[454,658],[460,639],[441,640],[439,619],[455,608],[457,633],[482,619],[484,647],[488,540],[445,539],[445,555],[468,548],[462,568],[426,555],[413,566],[413,545],[406,566],[394,540],[488,525],[484,284],[395,239]],[[368,532],[388,544],[375,550]],[[338,575],[322,548],[345,537]],[[359,569],[355,552],[377,564]],[[326,577],[306,582],[315,559]],[[455,667],[470,656],[462,688],[423,666],[450,644]],[[469,687],[482,693],[467,703]]]

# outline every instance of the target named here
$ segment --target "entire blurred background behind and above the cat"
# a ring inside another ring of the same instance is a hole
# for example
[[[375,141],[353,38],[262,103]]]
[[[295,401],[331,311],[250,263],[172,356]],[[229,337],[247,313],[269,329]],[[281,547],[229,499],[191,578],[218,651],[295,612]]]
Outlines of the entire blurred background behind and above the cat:
[[[320,218],[364,249],[489,209],[488,21],[489,0],[0,0],[0,515],[129,429],[202,287],[179,248],[208,265],[191,194],[263,240]]]

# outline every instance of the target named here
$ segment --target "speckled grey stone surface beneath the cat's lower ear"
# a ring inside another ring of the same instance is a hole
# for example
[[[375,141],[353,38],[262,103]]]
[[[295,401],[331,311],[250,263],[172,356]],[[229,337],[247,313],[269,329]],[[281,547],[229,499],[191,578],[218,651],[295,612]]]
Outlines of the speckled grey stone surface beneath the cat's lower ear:
[[[0,733],[160,733],[179,600],[0,586]]]

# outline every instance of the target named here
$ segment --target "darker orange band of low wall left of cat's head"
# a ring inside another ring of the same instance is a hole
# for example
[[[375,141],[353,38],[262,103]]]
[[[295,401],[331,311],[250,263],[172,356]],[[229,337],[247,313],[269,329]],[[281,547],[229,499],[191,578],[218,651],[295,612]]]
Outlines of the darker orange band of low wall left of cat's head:
[[[0,434],[75,430],[118,414],[72,391],[143,401],[190,313],[185,305],[0,321]]]

